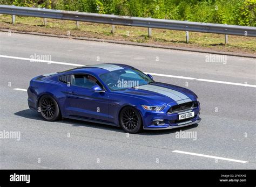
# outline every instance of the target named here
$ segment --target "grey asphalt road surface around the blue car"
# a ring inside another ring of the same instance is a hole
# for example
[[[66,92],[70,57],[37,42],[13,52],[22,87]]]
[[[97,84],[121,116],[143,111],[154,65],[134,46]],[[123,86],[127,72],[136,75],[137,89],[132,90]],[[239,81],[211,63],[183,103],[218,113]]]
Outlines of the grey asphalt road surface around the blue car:
[[[51,55],[55,62],[125,63],[154,73],[156,81],[196,92],[202,121],[129,136],[102,124],[46,122],[28,109],[26,91],[14,89],[27,89],[37,75],[75,66],[20,59],[35,54]],[[0,131],[21,132],[19,141],[0,139],[0,168],[255,169],[255,59],[227,56],[225,62],[207,62],[207,55],[0,32]],[[178,138],[180,130],[196,138]]]

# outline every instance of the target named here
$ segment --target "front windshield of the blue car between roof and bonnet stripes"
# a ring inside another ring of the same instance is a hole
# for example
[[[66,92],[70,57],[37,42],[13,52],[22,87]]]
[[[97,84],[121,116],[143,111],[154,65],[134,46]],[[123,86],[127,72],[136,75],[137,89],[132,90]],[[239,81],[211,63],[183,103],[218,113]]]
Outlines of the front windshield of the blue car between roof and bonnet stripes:
[[[120,69],[100,75],[102,81],[112,91],[125,90],[153,82],[153,80],[138,69]]]

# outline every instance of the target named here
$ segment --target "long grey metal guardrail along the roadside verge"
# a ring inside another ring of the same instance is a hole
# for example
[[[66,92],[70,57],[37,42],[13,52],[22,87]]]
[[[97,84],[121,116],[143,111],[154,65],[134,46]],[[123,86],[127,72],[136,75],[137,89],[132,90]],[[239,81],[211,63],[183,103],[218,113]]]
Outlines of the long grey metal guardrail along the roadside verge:
[[[102,15],[64,10],[28,8],[21,6],[0,5],[0,13],[6,15],[31,16],[73,21],[85,21],[102,24],[138,26],[147,28],[163,28],[167,30],[193,31],[216,34],[241,35],[256,37],[256,27],[198,23],[192,21],[177,21],[167,19],[139,18],[128,16]]]

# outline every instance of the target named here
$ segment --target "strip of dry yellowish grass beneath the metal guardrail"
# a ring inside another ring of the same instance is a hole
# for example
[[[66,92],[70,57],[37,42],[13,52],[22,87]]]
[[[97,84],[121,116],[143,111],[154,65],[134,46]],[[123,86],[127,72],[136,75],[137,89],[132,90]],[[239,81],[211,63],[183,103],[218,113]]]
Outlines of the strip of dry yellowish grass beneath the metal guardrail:
[[[111,40],[125,40],[139,43],[169,45],[192,48],[211,48],[217,51],[231,51],[253,53],[256,51],[256,38],[228,36],[228,44],[225,45],[225,37],[222,34],[190,32],[190,42],[186,44],[184,31],[172,31],[152,29],[152,37],[147,37],[147,28],[116,26],[116,32],[111,33],[111,25],[79,22],[79,30],[75,21],[47,19],[47,26],[43,25],[43,18],[16,16],[15,25],[11,24],[11,16],[0,16],[0,28],[24,32],[41,32],[57,35],[70,35],[77,37],[102,38]],[[129,33],[129,35],[127,35]]]

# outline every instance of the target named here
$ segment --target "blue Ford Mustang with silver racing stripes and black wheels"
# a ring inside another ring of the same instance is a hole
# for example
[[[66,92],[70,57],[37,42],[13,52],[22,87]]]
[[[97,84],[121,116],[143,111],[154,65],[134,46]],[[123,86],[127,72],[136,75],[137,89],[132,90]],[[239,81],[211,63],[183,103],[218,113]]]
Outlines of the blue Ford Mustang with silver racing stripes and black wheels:
[[[125,64],[96,64],[32,78],[30,109],[48,121],[60,117],[113,126],[125,132],[163,130],[199,123],[191,90],[153,81]]]

